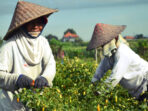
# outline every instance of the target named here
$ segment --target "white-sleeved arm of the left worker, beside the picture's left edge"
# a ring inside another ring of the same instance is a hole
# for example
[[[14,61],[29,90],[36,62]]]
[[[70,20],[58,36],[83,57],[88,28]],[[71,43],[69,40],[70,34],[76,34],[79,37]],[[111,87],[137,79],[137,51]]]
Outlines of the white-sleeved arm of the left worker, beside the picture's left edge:
[[[13,60],[10,45],[1,47],[0,49],[0,88],[13,91],[16,89],[16,81],[19,74],[10,73]]]

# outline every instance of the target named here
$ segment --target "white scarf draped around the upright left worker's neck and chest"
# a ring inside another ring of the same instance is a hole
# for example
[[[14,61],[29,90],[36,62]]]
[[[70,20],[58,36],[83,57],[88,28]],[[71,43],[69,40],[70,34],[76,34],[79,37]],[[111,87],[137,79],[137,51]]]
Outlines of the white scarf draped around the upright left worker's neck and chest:
[[[30,65],[36,65],[41,62],[44,48],[41,38],[30,38],[24,31],[15,35],[16,44],[25,61]]]

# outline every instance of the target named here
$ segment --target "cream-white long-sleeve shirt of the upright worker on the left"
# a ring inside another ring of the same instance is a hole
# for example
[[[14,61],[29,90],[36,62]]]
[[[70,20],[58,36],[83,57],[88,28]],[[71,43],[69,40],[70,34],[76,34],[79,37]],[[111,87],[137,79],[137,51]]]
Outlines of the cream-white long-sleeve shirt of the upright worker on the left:
[[[12,38],[0,50],[0,111],[25,111],[24,106],[16,101],[13,92],[20,74],[35,80],[43,76],[50,86],[56,73],[56,63],[48,41],[40,36],[43,44],[43,57],[36,65],[29,65],[20,53],[16,41]]]

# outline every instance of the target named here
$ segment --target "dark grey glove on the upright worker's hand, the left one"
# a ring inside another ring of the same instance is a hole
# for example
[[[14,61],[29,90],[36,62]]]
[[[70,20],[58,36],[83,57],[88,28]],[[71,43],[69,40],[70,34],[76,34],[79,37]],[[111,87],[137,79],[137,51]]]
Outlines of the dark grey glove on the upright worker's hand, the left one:
[[[30,88],[32,81],[33,79],[30,77],[21,74],[16,81],[16,86],[18,88]]]

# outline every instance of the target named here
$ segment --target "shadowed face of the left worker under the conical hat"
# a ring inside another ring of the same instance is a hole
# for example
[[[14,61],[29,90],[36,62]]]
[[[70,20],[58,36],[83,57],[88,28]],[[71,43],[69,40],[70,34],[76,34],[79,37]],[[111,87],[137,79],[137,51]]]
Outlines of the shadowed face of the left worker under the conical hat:
[[[34,20],[26,24],[26,29],[28,32],[41,32],[43,30],[44,24],[40,19]]]

